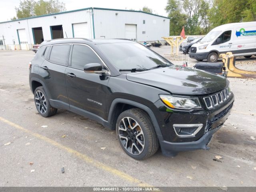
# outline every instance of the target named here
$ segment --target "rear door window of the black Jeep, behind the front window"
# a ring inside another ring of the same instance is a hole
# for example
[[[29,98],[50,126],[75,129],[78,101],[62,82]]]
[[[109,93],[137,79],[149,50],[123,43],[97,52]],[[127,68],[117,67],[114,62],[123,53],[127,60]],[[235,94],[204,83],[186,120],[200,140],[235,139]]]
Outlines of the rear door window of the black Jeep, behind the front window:
[[[50,54],[50,61],[53,63],[66,65],[68,61],[70,45],[54,45]]]

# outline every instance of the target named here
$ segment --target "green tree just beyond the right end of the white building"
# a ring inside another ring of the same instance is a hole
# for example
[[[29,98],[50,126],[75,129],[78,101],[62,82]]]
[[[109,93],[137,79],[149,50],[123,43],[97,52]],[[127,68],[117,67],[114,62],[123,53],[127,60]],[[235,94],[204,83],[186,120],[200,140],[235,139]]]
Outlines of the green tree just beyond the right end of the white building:
[[[168,0],[165,10],[170,18],[170,35],[180,35],[182,26],[186,25],[188,19],[188,16],[182,13],[180,2],[178,0]]]

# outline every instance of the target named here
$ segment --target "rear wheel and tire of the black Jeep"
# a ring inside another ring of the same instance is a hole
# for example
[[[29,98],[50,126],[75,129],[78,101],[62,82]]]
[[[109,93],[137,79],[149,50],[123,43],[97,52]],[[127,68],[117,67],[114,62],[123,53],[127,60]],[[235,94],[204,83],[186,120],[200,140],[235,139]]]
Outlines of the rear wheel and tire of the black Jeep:
[[[40,115],[43,117],[50,117],[57,113],[56,108],[50,105],[48,97],[44,91],[43,86],[36,88],[34,92],[34,101],[36,104],[36,109]]]

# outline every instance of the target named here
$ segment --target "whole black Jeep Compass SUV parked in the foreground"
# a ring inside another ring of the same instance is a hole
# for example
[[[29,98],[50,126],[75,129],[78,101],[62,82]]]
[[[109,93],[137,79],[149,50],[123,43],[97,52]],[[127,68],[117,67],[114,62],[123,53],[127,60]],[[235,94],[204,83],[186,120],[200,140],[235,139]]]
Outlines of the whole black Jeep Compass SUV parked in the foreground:
[[[30,62],[30,88],[44,116],[66,109],[116,130],[132,158],[208,149],[234,95],[226,78],[174,66],[130,40],[43,42]]]

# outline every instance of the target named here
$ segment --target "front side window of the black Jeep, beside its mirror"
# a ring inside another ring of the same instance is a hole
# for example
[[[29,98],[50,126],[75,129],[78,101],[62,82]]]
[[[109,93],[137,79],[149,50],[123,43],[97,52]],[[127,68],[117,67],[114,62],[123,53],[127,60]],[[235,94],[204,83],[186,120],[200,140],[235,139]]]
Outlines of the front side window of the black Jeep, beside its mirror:
[[[84,65],[88,63],[102,64],[98,56],[88,46],[74,45],[71,66],[83,70]]]

